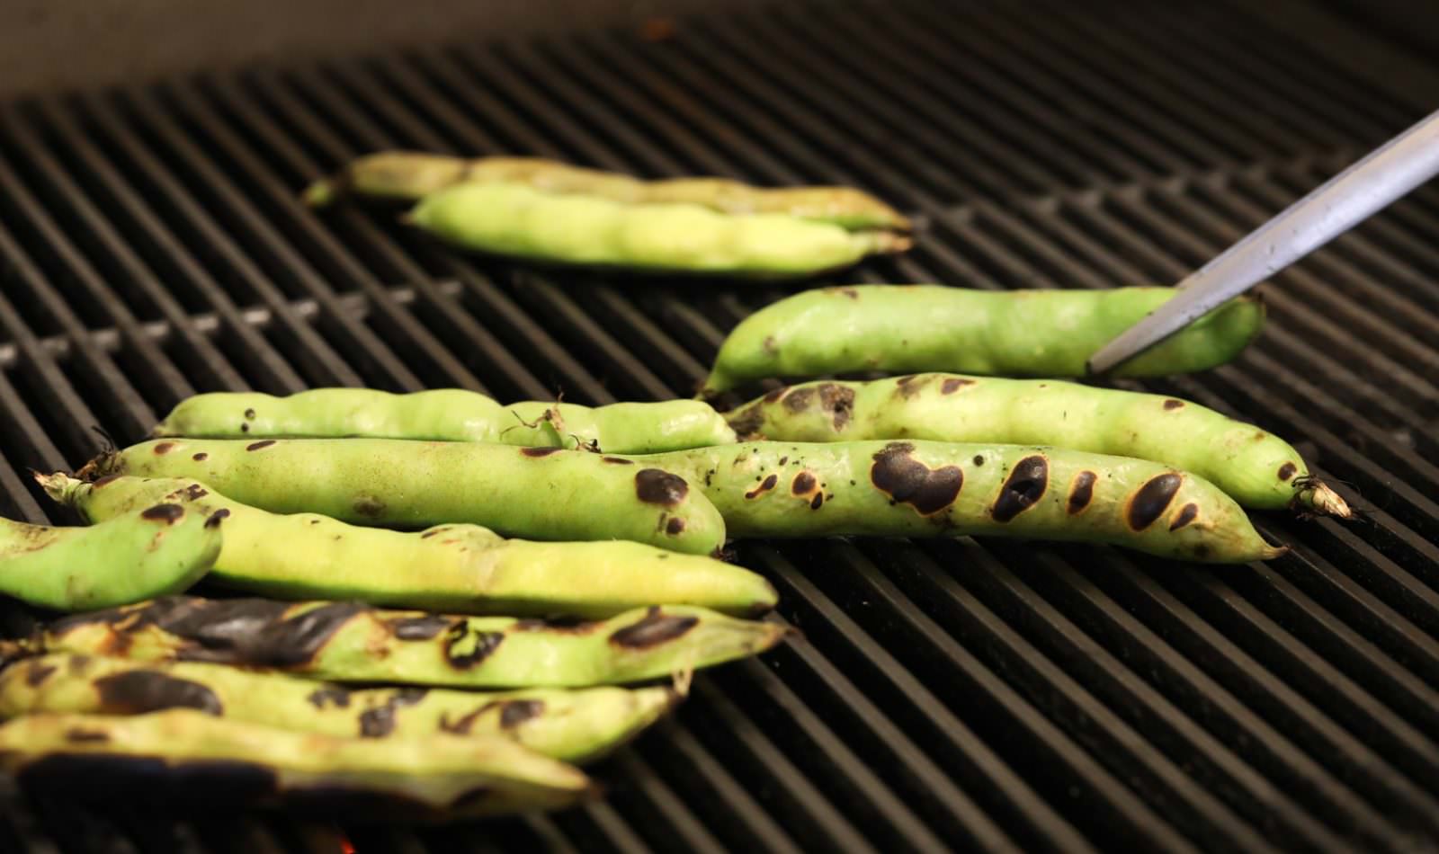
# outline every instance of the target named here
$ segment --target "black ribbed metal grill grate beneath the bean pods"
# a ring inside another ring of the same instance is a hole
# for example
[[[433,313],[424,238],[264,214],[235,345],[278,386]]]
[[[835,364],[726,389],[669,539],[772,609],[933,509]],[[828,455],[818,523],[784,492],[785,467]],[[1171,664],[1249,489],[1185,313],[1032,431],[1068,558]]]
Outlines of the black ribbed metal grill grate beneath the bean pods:
[[[45,520],[26,467],[79,466],[92,426],[135,441],[196,391],[688,397],[783,295],[465,259],[295,203],[363,151],[858,184],[928,230],[848,280],[1105,288],[1176,280],[1436,98],[1439,66],[1302,6],[914,0],[6,105],[0,512]],[[699,676],[599,766],[602,802],[425,830],[10,794],[0,847],[1433,850],[1436,229],[1439,187],[1281,275],[1235,365],[1130,385],[1285,436],[1367,510],[1258,516],[1278,561],[747,542],[804,640]]]

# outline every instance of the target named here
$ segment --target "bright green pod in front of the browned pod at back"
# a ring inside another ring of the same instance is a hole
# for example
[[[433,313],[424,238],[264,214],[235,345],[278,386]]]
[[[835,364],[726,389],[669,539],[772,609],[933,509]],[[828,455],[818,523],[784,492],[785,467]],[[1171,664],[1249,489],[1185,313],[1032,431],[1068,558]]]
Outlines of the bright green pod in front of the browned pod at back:
[[[783,214],[623,204],[524,184],[458,184],[420,200],[409,221],[463,249],[532,262],[761,279],[813,276],[911,243]]]

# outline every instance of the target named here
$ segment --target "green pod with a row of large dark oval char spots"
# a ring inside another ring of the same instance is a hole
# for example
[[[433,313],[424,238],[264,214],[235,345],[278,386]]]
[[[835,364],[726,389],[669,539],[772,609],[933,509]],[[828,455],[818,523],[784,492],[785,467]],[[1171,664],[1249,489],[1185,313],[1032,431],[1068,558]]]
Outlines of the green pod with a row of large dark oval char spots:
[[[702,485],[734,536],[1022,536],[1215,564],[1286,551],[1199,476],[1055,447],[750,441],[636,462]]]

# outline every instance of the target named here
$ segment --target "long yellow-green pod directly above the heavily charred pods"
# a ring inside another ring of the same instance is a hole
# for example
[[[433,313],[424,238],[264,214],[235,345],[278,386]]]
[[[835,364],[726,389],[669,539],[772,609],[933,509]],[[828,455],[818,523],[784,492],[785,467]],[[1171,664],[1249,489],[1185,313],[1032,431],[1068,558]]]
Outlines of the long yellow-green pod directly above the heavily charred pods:
[[[413,533],[363,528],[315,513],[268,513],[189,479],[36,480],[91,522],[155,502],[222,513],[224,546],[210,581],[282,600],[600,618],[655,602],[753,617],[777,598],[774,587],[748,569],[635,542],[507,541],[478,525]]]

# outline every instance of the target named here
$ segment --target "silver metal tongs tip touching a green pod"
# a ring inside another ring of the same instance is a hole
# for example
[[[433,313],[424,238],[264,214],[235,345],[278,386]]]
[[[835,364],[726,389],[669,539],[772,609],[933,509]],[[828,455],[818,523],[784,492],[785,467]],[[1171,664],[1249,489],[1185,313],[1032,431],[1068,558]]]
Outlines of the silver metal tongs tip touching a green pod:
[[[1439,112],[1295,201],[1176,286],[1173,299],[1089,357],[1105,374],[1348,231],[1439,173]]]

